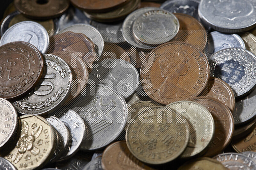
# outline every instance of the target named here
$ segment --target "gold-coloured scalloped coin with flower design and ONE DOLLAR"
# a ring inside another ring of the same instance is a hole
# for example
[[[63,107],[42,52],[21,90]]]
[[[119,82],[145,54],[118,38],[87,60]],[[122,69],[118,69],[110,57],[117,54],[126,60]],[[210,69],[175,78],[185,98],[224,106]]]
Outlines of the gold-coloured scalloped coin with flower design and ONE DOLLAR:
[[[15,139],[1,150],[1,156],[9,160],[18,170],[42,167],[54,151],[52,126],[41,116],[19,117]]]

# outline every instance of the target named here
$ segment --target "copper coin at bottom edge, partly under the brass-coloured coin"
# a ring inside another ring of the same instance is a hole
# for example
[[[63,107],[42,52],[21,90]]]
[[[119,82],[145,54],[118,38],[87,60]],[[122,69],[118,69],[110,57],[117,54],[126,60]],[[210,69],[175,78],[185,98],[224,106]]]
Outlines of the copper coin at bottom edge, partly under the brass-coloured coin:
[[[104,170],[154,170],[154,168],[143,164],[132,155],[125,140],[109,145],[103,152],[101,163]]]

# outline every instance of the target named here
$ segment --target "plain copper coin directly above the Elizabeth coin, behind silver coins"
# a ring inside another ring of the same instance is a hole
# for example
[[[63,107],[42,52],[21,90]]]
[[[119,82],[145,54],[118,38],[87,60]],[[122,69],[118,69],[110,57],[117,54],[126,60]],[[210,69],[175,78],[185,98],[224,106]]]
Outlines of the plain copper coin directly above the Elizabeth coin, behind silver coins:
[[[204,26],[196,19],[187,14],[174,13],[180,23],[180,30],[172,41],[182,41],[204,50],[207,43],[207,33]]]

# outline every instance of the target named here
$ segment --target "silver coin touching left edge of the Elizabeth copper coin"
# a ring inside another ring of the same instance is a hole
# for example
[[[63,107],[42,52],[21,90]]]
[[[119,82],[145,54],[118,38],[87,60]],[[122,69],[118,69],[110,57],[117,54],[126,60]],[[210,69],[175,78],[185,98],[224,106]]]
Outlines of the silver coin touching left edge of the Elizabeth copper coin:
[[[105,59],[98,64],[89,74],[89,79],[95,84],[106,84],[114,88],[124,99],[135,92],[140,76],[131,63],[120,59]]]

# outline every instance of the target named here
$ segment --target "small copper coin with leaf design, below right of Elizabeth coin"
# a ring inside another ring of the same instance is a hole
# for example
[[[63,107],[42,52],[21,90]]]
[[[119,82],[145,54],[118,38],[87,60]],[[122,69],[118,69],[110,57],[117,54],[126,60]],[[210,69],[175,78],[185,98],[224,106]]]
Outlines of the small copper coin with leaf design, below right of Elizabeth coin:
[[[225,81],[218,78],[210,77],[208,85],[200,96],[208,96],[219,100],[228,106],[231,112],[235,109],[236,100],[233,90]]]

